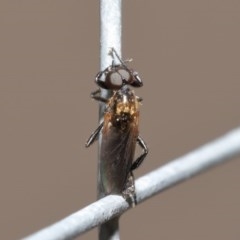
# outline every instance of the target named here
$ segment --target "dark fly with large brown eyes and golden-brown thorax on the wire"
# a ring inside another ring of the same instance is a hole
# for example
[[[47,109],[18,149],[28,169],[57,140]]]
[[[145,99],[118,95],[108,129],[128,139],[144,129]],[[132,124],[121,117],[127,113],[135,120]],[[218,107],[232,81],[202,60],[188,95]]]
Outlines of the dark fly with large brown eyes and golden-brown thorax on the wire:
[[[140,166],[148,153],[148,148],[139,136],[139,102],[142,100],[129,88],[143,85],[137,72],[129,69],[114,48],[111,50],[113,63],[96,76],[99,87],[112,90],[113,95],[105,99],[100,89],[92,93],[92,98],[106,103],[103,122],[86,142],[89,147],[102,134],[100,148],[100,187],[104,195],[122,194],[136,204],[134,177],[132,171]],[[114,54],[120,64],[114,63]],[[136,143],[143,153],[134,160]]]

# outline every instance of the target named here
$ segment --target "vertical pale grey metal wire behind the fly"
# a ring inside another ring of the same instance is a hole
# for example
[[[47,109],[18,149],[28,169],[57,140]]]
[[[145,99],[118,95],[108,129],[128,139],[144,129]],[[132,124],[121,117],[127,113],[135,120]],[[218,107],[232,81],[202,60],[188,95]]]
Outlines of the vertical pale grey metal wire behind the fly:
[[[100,56],[101,70],[112,63],[112,57],[108,54],[110,48],[114,47],[121,56],[121,28],[122,28],[122,1],[121,0],[100,0]],[[109,98],[111,92],[102,89],[102,97]],[[100,103],[99,120],[102,122],[104,104]],[[99,136],[99,151],[101,150],[101,135]],[[100,154],[98,154],[98,198],[104,197],[100,179]],[[101,225],[99,227],[99,240],[119,240],[119,217]]]

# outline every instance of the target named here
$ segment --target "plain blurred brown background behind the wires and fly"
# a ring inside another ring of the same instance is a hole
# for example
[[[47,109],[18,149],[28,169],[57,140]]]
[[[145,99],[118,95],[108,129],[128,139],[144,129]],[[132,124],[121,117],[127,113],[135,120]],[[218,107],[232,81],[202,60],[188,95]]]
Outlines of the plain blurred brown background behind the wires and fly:
[[[0,1],[0,239],[96,198],[98,1]],[[239,125],[240,1],[124,1],[150,154],[137,177]],[[122,239],[239,239],[240,158],[127,212]],[[96,229],[81,239],[96,239]]]

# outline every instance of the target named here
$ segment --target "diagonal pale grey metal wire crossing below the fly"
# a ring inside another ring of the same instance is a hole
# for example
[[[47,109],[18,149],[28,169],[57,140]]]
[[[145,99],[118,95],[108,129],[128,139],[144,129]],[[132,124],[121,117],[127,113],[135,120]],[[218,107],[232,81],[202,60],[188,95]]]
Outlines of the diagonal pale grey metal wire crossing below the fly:
[[[240,155],[240,127],[136,181],[138,203]],[[129,209],[117,195],[104,197],[23,240],[70,240]]]

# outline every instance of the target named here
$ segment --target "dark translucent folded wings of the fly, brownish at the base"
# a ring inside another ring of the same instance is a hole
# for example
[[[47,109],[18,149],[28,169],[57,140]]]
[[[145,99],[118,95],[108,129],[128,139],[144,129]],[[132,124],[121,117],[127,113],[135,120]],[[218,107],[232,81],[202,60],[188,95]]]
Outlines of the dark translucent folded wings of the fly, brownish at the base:
[[[101,144],[101,185],[107,194],[122,193],[132,166],[138,123],[133,121],[126,132],[105,121]]]

